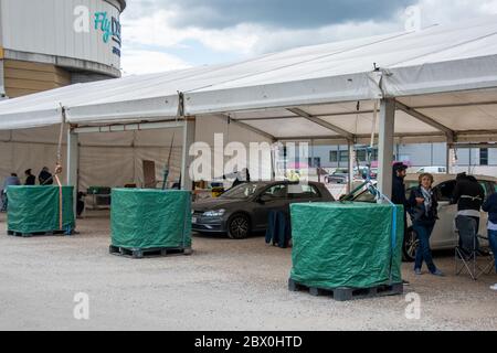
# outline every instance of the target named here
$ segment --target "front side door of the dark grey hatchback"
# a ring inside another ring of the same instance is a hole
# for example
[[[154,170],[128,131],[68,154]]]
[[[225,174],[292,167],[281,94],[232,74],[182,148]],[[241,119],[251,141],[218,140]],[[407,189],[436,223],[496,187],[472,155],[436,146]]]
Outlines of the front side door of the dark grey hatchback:
[[[288,186],[287,184],[275,184],[258,195],[254,207],[255,228],[267,228],[271,211],[288,212]]]

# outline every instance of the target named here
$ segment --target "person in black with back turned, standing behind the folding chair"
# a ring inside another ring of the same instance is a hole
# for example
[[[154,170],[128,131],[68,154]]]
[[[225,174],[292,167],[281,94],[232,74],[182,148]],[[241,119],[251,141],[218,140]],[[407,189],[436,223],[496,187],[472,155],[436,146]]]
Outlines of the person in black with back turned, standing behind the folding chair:
[[[469,258],[474,250],[479,250],[477,235],[485,190],[475,176],[466,173],[458,174],[456,181],[451,204],[457,204],[456,227],[459,232],[459,247]]]

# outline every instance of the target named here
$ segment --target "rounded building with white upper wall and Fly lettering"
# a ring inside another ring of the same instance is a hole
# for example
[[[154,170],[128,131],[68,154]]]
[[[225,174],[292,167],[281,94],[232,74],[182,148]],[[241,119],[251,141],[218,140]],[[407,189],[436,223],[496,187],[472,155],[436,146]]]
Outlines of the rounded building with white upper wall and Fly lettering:
[[[0,0],[0,97],[120,77],[125,0]]]

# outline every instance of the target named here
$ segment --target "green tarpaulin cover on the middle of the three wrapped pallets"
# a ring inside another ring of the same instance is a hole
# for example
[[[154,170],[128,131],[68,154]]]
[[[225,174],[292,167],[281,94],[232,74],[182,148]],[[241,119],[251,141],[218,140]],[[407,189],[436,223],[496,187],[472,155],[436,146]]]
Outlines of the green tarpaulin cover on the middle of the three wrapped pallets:
[[[114,189],[112,245],[129,249],[191,247],[191,193]]]

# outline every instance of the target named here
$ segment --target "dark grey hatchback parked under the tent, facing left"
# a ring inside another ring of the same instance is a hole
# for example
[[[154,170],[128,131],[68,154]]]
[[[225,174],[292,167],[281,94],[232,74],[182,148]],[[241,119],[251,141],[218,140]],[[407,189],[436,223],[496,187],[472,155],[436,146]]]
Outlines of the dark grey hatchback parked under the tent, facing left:
[[[321,183],[250,182],[218,199],[193,203],[192,229],[243,239],[252,232],[266,231],[271,211],[288,213],[292,203],[332,201]]]

